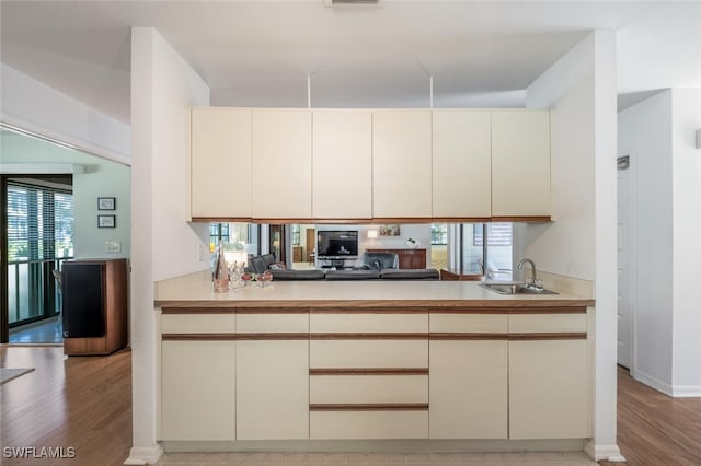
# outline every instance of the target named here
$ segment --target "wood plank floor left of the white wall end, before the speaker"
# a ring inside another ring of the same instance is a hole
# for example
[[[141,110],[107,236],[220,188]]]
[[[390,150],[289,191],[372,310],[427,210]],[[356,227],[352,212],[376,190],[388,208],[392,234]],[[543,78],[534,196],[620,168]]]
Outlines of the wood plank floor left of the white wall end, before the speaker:
[[[0,346],[3,368],[35,371],[0,385],[2,447],[73,447],[73,459],[5,465],[120,465],[131,447],[131,352],[64,357],[61,347]],[[68,451],[65,450],[67,454]],[[0,451],[0,455],[2,451]]]

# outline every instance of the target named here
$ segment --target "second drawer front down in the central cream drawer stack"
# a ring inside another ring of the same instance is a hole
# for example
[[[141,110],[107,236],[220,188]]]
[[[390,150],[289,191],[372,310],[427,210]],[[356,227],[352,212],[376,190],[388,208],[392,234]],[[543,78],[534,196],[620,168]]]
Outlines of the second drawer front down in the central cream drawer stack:
[[[310,368],[427,368],[428,340],[311,340]]]

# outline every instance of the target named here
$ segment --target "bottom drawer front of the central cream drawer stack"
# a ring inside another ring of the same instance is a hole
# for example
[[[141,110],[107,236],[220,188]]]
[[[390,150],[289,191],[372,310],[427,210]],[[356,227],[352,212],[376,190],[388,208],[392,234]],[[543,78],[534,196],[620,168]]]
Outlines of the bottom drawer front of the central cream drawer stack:
[[[427,439],[428,411],[312,411],[311,439]]]

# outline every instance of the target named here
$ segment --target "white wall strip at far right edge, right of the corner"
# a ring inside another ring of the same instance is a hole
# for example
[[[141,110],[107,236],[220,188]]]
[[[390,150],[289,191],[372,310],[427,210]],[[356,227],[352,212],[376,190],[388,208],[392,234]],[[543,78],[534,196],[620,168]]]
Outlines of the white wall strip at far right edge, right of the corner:
[[[675,396],[701,396],[701,89],[671,91]]]

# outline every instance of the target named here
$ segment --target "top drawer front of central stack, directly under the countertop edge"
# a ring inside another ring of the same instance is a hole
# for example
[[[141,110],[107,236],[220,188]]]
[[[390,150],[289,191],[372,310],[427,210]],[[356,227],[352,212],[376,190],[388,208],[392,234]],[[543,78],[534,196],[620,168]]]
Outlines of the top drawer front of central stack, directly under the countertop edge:
[[[324,333],[426,333],[428,314],[333,314],[309,316],[310,331]]]

